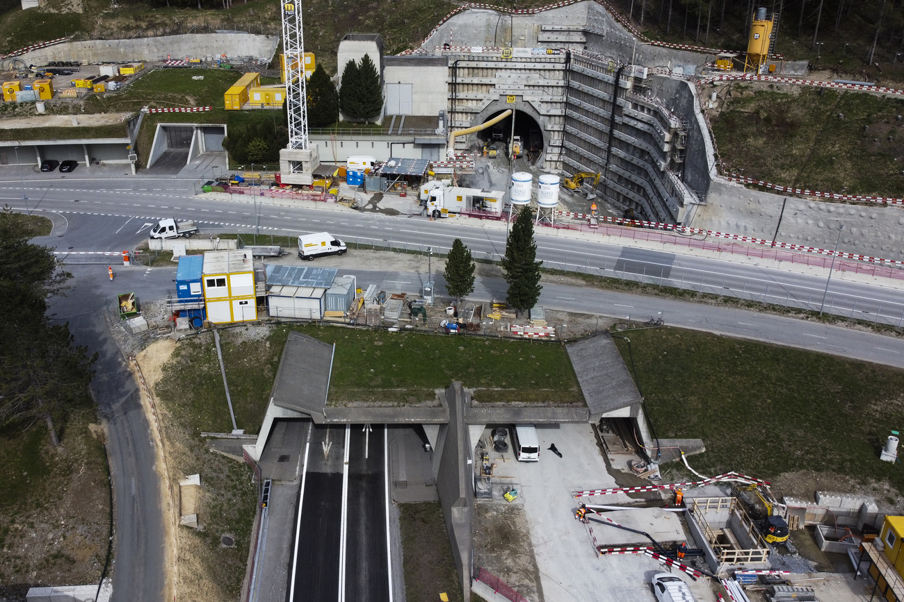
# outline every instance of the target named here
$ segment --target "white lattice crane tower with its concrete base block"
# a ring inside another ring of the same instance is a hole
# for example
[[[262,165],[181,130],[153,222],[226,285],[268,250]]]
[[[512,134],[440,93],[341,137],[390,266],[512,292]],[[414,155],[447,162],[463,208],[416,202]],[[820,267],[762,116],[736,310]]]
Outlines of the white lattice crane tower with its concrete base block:
[[[286,184],[310,185],[314,182],[312,170],[320,158],[317,147],[311,147],[307,139],[305,32],[301,22],[301,3],[297,0],[284,2],[282,18],[288,146],[279,152],[279,171]]]

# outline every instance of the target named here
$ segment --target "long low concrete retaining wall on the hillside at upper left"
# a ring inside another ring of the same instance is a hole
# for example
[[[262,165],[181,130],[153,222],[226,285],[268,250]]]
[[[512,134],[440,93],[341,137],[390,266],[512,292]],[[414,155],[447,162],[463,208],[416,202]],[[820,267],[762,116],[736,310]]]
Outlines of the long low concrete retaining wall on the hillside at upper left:
[[[166,60],[192,57],[216,59],[246,58],[272,60],[279,44],[278,36],[253,33],[186,33],[159,38],[133,40],[89,40],[64,42],[27,52],[20,59],[26,63],[45,65],[49,60],[87,60],[88,62],[130,62],[133,60]]]

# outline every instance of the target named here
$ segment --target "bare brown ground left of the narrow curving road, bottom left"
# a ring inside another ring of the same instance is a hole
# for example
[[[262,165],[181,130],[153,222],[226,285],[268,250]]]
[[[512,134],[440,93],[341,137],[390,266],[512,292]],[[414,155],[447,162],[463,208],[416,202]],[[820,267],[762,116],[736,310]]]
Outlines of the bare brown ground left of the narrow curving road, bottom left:
[[[39,424],[0,433],[0,478],[14,494],[0,504],[0,599],[24,600],[29,587],[99,581],[110,507],[103,430],[93,420],[93,411],[72,414],[60,449]]]

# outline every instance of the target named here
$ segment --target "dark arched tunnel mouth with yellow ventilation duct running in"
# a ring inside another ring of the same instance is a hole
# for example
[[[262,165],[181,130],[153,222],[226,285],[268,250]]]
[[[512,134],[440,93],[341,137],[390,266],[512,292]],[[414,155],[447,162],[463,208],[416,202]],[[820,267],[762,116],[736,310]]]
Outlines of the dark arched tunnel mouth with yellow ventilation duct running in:
[[[508,144],[512,138],[512,119],[514,117],[514,135],[521,139],[523,158],[531,165],[541,164],[549,143],[544,128],[545,120],[527,103],[507,104],[502,101],[490,103],[474,119],[473,125],[482,125],[504,111],[512,109],[513,115],[505,117],[498,124],[491,125],[475,134],[475,142],[479,151],[485,146],[498,144],[499,152],[508,156]]]

